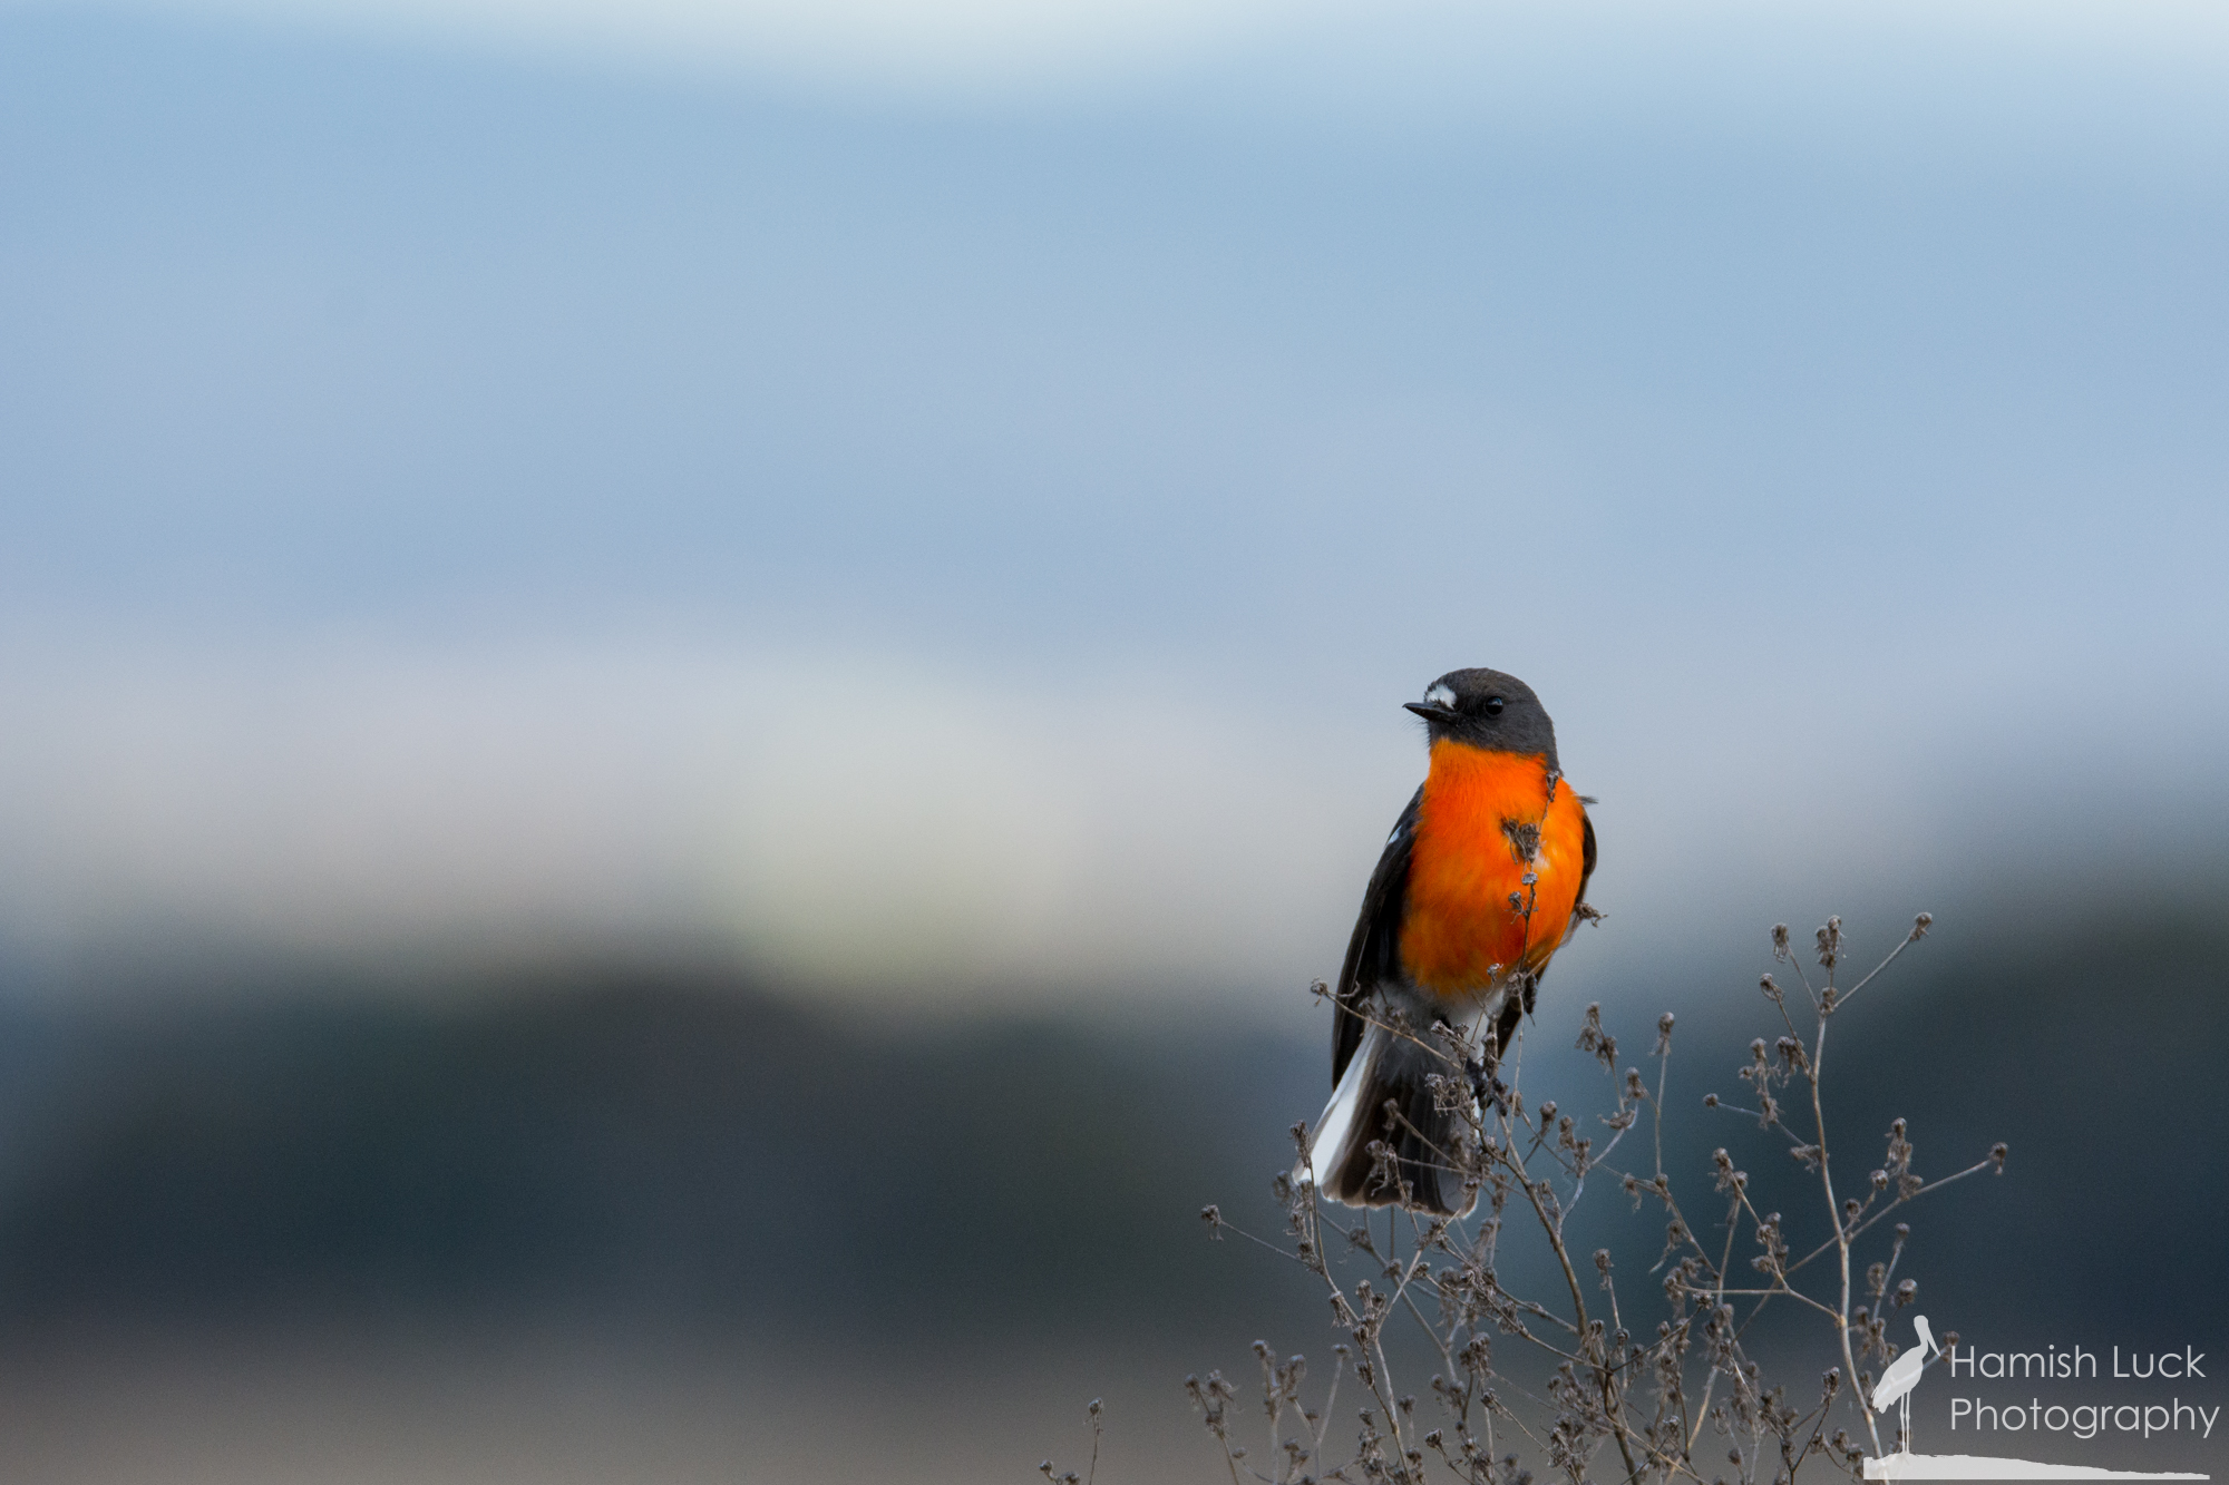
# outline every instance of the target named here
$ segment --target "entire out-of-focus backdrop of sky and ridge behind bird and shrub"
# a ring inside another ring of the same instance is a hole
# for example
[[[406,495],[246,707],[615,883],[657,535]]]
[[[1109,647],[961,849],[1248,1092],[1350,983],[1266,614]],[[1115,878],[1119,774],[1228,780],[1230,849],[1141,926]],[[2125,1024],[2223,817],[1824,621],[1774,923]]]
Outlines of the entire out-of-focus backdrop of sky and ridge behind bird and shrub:
[[[1930,910],[1921,1309],[2229,1353],[2225,263],[2202,4],[0,0],[9,1478],[1213,1478],[1458,664],[1536,1097]]]

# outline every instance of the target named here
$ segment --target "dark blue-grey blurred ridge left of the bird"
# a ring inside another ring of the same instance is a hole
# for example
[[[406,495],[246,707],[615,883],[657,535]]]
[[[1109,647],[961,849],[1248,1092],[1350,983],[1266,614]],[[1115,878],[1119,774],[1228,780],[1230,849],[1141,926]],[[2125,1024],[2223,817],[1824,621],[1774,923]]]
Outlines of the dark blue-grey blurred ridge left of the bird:
[[[1255,1110],[1306,1079],[1293,1046],[1175,1028],[880,1037],[669,972],[508,990],[18,1037],[45,1066],[16,1099],[0,1302],[738,1333],[1208,1313],[1248,1271],[1197,1262],[1197,1211],[1264,1182],[1284,1137]]]

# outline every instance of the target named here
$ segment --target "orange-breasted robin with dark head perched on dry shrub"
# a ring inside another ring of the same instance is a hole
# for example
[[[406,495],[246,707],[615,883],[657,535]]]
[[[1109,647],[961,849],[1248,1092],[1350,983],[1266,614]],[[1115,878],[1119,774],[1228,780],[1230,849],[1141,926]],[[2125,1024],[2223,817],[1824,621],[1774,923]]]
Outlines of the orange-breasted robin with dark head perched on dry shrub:
[[[1594,823],[1563,780],[1556,725],[1516,676],[1449,671],[1404,705],[1424,718],[1431,769],[1362,894],[1333,1010],[1333,1095],[1300,1175],[1349,1206],[1458,1213],[1476,1197],[1449,1168],[1460,1115],[1424,1081],[1456,1072],[1431,1028],[1485,1019],[1500,1061],[1549,957],[1592,914]],[[1391,1180],[1371,1157],[1378,1139]]]

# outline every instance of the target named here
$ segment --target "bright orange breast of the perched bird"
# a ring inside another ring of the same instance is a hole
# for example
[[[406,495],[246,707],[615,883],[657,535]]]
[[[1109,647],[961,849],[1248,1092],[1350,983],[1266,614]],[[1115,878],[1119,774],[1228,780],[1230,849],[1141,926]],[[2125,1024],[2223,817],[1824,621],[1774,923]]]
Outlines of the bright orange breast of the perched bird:
[[[1400,930],[1409,981],[1469,999],[1545,965],[1578,903],[1585,821],[1571,785],[1549,800],[1542,758],[1435,742]]]

